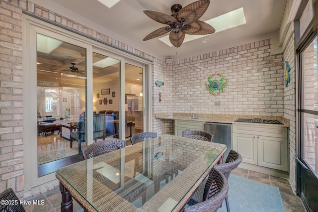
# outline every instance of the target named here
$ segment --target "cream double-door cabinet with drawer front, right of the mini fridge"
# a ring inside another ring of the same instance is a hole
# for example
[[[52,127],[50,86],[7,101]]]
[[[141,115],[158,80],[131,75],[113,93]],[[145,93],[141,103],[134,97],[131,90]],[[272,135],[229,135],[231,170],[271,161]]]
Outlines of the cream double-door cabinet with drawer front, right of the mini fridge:
[[[286,127],[233,124],[232,137],[242,162],[288,171]]]

